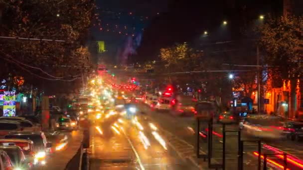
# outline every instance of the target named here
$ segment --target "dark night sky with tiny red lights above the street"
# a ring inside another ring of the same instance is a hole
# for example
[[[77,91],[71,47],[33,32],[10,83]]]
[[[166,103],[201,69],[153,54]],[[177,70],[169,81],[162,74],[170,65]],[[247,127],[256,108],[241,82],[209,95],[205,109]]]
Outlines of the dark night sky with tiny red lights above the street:
[[[117,63],[157,60],[159,49],[176,42],[193,42],[205,30],[212,41],[238,38],[240,27],[260,14],[281,11],[282,0],[98,0],[98,20],[92,28],[104,40]],[[228,33],[220,28],[229,22]],[[132,40],[132,50],[125,51]],[[135,44],[135,45],[134,45]],[[124,53],[125,52],[125,53]]]

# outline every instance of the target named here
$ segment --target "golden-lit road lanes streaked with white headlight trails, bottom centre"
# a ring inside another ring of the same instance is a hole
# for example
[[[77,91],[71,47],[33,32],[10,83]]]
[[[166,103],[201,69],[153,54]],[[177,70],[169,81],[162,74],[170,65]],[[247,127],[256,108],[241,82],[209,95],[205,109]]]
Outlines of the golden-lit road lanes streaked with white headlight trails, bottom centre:
[[[132,122],[120,115],[95,123],[91,127],[90,170],[194,170],[174,149],[160,144],[157,139],[162,134],[150,123],[141,116]]]

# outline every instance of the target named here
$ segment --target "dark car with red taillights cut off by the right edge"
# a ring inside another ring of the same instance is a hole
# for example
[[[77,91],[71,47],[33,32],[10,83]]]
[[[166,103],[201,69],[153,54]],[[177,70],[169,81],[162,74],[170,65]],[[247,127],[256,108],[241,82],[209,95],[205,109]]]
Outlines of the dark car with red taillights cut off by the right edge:
[[[299,141],[303,138],[303,123],[298,121],[285,122],[283,125],[283,133],[287,139]]]

